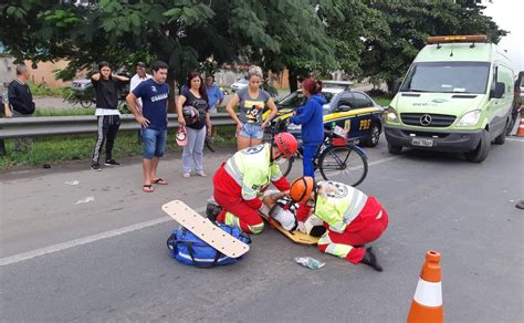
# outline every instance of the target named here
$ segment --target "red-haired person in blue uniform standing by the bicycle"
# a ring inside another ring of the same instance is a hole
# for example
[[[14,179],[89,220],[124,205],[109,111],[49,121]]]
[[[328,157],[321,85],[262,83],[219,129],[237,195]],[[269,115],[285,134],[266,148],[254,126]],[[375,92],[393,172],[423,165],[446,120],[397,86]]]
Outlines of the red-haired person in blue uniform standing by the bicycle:
[[[326,100],[321,94],[322,82],[313,77],[302,82],[302,93],[307,101],[304,106],[296,110],[294,116],[290,122],[295,125],[302,125],[302,147],[303,147],[303,175],[315,177],[315,168],[313,166],[313,158],[316,149],[324,142],[324,118],[322,106]]]

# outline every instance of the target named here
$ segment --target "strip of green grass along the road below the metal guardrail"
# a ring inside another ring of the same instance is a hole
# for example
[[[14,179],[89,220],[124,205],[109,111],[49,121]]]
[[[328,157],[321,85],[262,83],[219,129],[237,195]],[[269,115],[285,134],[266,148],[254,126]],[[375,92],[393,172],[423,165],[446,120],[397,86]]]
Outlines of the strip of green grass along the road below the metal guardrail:
[[[235,143],[235,128],[233,126],[217,127],[214,145],[227,146]],[[33,147],[29,152],[14,152],[14,140],[6,140],[7,156],[0,158],[0,171],[6,171],[14,166],[36,166],[56,164],[61,160],[87,160],[93,154],[96,136],[77,135],[50,136],[34,138]],[[115,159],[140,155],[143,145],[138,143],[137,132],[119,132],[116,137],[113,155]],[[175,131],[168,132],[167,152],[181,152],[175,139]],[[104,153],[104,150],[103,150]]]

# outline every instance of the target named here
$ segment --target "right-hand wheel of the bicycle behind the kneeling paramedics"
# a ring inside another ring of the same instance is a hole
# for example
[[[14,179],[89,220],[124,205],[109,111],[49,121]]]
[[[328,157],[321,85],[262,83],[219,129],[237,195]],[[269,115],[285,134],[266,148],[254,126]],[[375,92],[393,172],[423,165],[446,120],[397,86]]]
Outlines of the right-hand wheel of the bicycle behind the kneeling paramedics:
[[[367,156],[353,146],[327,147],[318,158],[322,177],[357,186],[367,176]]]

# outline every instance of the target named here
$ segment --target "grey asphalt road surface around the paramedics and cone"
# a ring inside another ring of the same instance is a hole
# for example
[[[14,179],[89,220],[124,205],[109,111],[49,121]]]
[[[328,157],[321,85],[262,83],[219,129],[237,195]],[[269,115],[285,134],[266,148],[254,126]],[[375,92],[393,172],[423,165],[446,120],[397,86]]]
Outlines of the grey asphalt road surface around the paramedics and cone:
[[[165,241],[176,223],[161,204],[202,210],[212,191],[210,178],[181,178],[179,154],[160,164],[170,185],[154,194],[140,191],[138,158],[102,173],[74,163],[1,174],[2,321],[401,322],[434,249],[447,321],[522,322],[524,211],[514,205],[524,197],[524,140],[493,145],[483,164],[425,152],[392,157],[385,147],[367,149],[360,186],[389,212],[374,243],[382,273],[271,229],[238,264],[175,262]],[[206,169],[229,153],[208,154]],[[75,205],[85,197],[94,200]],[[294,263],[300,256],[326,265],[311,271]]]

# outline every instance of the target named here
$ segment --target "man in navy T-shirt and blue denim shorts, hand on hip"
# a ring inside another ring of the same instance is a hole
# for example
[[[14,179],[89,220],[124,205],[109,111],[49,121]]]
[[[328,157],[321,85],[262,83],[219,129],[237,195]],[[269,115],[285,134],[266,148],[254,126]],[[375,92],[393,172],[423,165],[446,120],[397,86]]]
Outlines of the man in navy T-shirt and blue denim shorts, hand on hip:
[[[160,157],[166,149],[167,137],[167,104],[169,85],[166,83],[168,65],[161,61],[151,65],[153,79],[143,81],[126,97],[127,105],[140,124],[144,142],[143,167],[145,192],[153,192],[153,184],[167,185],[157,176]],[[142,98],[142,111],[137,108],[136,100]]]

